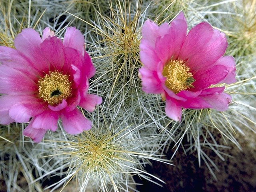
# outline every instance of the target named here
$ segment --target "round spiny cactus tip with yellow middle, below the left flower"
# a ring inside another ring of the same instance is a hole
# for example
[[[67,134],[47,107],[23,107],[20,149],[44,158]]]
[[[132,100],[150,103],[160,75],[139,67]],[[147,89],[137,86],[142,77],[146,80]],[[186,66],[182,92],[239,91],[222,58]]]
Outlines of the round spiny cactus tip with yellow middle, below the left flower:
[[[125,145],[131,142],[129,139],[120,138],[113,130],[100,130],[89,130],[72,137],[69,147],[63,146],[61,150],[62,154],[70,156],[70,172],[76,171],[72,178],[82,179],[82,182],[89,179],[96,188],[108,191],[108,185],[119,188],[129,180],[128,166],[132,167],[138,160],[129,155],[131,151],[128,149],[132,146]],[[121,140],[115,142],[118,138]]]

